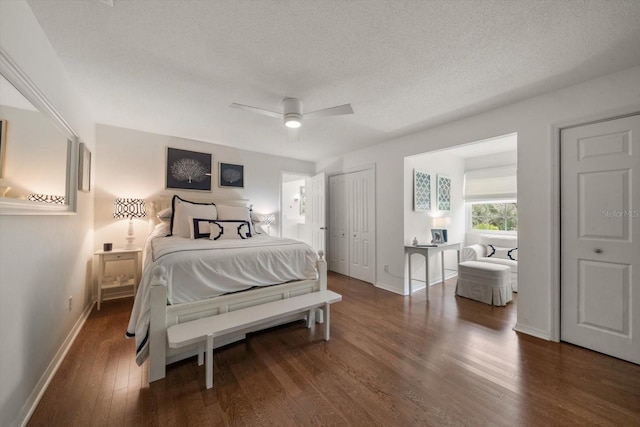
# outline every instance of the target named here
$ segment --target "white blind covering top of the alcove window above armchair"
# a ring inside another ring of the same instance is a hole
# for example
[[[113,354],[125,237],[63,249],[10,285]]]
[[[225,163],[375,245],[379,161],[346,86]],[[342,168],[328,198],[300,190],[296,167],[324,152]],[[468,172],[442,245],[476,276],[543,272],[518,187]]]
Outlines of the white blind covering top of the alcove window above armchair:
[[[464,200],[517,199],[518,182],[515,166],[476,169],[464,174]]]

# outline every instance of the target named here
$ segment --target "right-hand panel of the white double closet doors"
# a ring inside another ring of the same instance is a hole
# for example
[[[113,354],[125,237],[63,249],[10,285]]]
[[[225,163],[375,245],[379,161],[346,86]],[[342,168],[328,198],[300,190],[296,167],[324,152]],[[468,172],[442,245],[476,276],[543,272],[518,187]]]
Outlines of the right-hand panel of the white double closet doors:
[[[375,185],[373,169],[350,173],[349,198],[349,276],[365,282],[375,280]]]

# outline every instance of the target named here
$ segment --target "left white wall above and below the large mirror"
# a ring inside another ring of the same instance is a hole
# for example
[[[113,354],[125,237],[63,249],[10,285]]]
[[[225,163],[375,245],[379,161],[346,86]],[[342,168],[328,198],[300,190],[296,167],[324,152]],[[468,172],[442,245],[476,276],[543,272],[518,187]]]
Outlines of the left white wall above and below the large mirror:
[[[26,1],[1,2],[0,45],[93,150],[93,120]],[[79,193],[77,215],[0,217],[2,426],[26,419],[91,303],[93,194]]]

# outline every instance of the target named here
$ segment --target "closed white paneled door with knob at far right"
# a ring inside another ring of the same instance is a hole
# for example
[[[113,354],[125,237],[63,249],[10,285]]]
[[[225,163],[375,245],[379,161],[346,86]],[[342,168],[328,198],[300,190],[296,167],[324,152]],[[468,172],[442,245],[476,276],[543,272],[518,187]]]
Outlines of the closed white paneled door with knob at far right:
[[[561,339],[640,363],[640,115],[563,129]]]

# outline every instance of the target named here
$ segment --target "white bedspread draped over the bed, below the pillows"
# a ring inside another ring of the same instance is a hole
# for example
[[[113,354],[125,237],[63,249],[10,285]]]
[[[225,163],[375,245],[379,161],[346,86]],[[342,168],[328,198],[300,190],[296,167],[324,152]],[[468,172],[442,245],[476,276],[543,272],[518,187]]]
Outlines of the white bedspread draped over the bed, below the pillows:
[[[163,266],[168,277],[167,303],[179,304],[294,280],[315,280],[317,255],[300,241],[257,235],[246,240],[158,237],[145,244],[144,270],[127,337],[136,338],[136,361],[148,354],[152,270]]]

